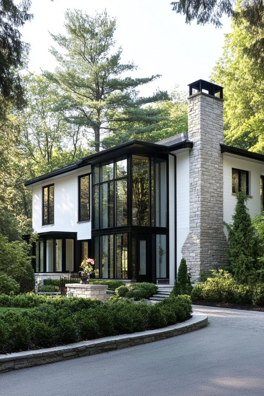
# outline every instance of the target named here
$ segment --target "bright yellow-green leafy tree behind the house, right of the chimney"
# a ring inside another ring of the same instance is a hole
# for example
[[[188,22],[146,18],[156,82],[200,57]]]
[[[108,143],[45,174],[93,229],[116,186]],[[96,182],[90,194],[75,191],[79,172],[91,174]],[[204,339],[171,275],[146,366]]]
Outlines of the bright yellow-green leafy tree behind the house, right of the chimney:
[[[264,68],[245,54],[252,40],[247,25],[246,21],[232,24],[212,78],[224,86],[225,142],[263,153]]]

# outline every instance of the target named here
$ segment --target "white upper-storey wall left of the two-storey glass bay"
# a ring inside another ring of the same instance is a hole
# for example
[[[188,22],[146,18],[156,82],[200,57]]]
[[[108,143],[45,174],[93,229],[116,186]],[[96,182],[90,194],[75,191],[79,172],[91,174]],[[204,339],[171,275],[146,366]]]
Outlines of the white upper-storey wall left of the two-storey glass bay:
[[[35,232],[77,232],[77,239],[91,238],[91,221],[78,223],[78,176],[91,171],[91,166],[78,173],[47,180],[32,188],[32,227]],[[42,226],[42,187],[54,183],[54,225]]]

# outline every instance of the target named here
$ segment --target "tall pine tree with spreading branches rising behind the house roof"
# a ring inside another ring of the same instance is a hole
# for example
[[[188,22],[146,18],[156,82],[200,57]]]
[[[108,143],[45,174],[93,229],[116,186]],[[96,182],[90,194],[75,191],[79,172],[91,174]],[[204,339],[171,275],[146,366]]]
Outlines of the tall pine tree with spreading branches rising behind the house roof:
[[[160,109],[145,107],[168,99],[158,91],[151,97],[140,97],[137,89],[159,75],[132,78],[125,74],[137,69],[133,62],[121,63],[122,48],[114,50],[116,20],[104,13],[91,17],[81,11],[67,11],[67,36],[51,35],[63,55],[52,48],[59,63],[54,73],[45,72],[49,80],[64,92],[57,110],[64,110],[68,122],[93,131],[95,150],[100,149],[100,135],[128,128],[156,124]],[[153,129],[152,129],[153,130]]]

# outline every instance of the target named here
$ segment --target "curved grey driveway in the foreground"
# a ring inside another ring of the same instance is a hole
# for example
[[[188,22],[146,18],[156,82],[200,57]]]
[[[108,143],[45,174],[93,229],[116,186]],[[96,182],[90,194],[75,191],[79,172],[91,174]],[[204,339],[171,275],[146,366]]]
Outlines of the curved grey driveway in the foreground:
[[[194,306],[204,329],[0,375],[0,396],[264,395],[264,313]]]

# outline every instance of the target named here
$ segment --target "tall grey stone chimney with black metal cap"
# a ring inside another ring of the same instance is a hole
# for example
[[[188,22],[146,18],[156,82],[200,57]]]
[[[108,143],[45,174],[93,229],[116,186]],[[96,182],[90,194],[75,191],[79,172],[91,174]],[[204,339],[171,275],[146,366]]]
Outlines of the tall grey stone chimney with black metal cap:
[[[188,136],[190,164],[190,230],[182,256],[192,279],[201,270],[226,265],[223,230],[223,88],[204,80],[189,84]],[[196,93],[193,93],[196,89]],[[207,92],[205,92],[207,91]],[[215,96],[219,93],[219,96]]]

